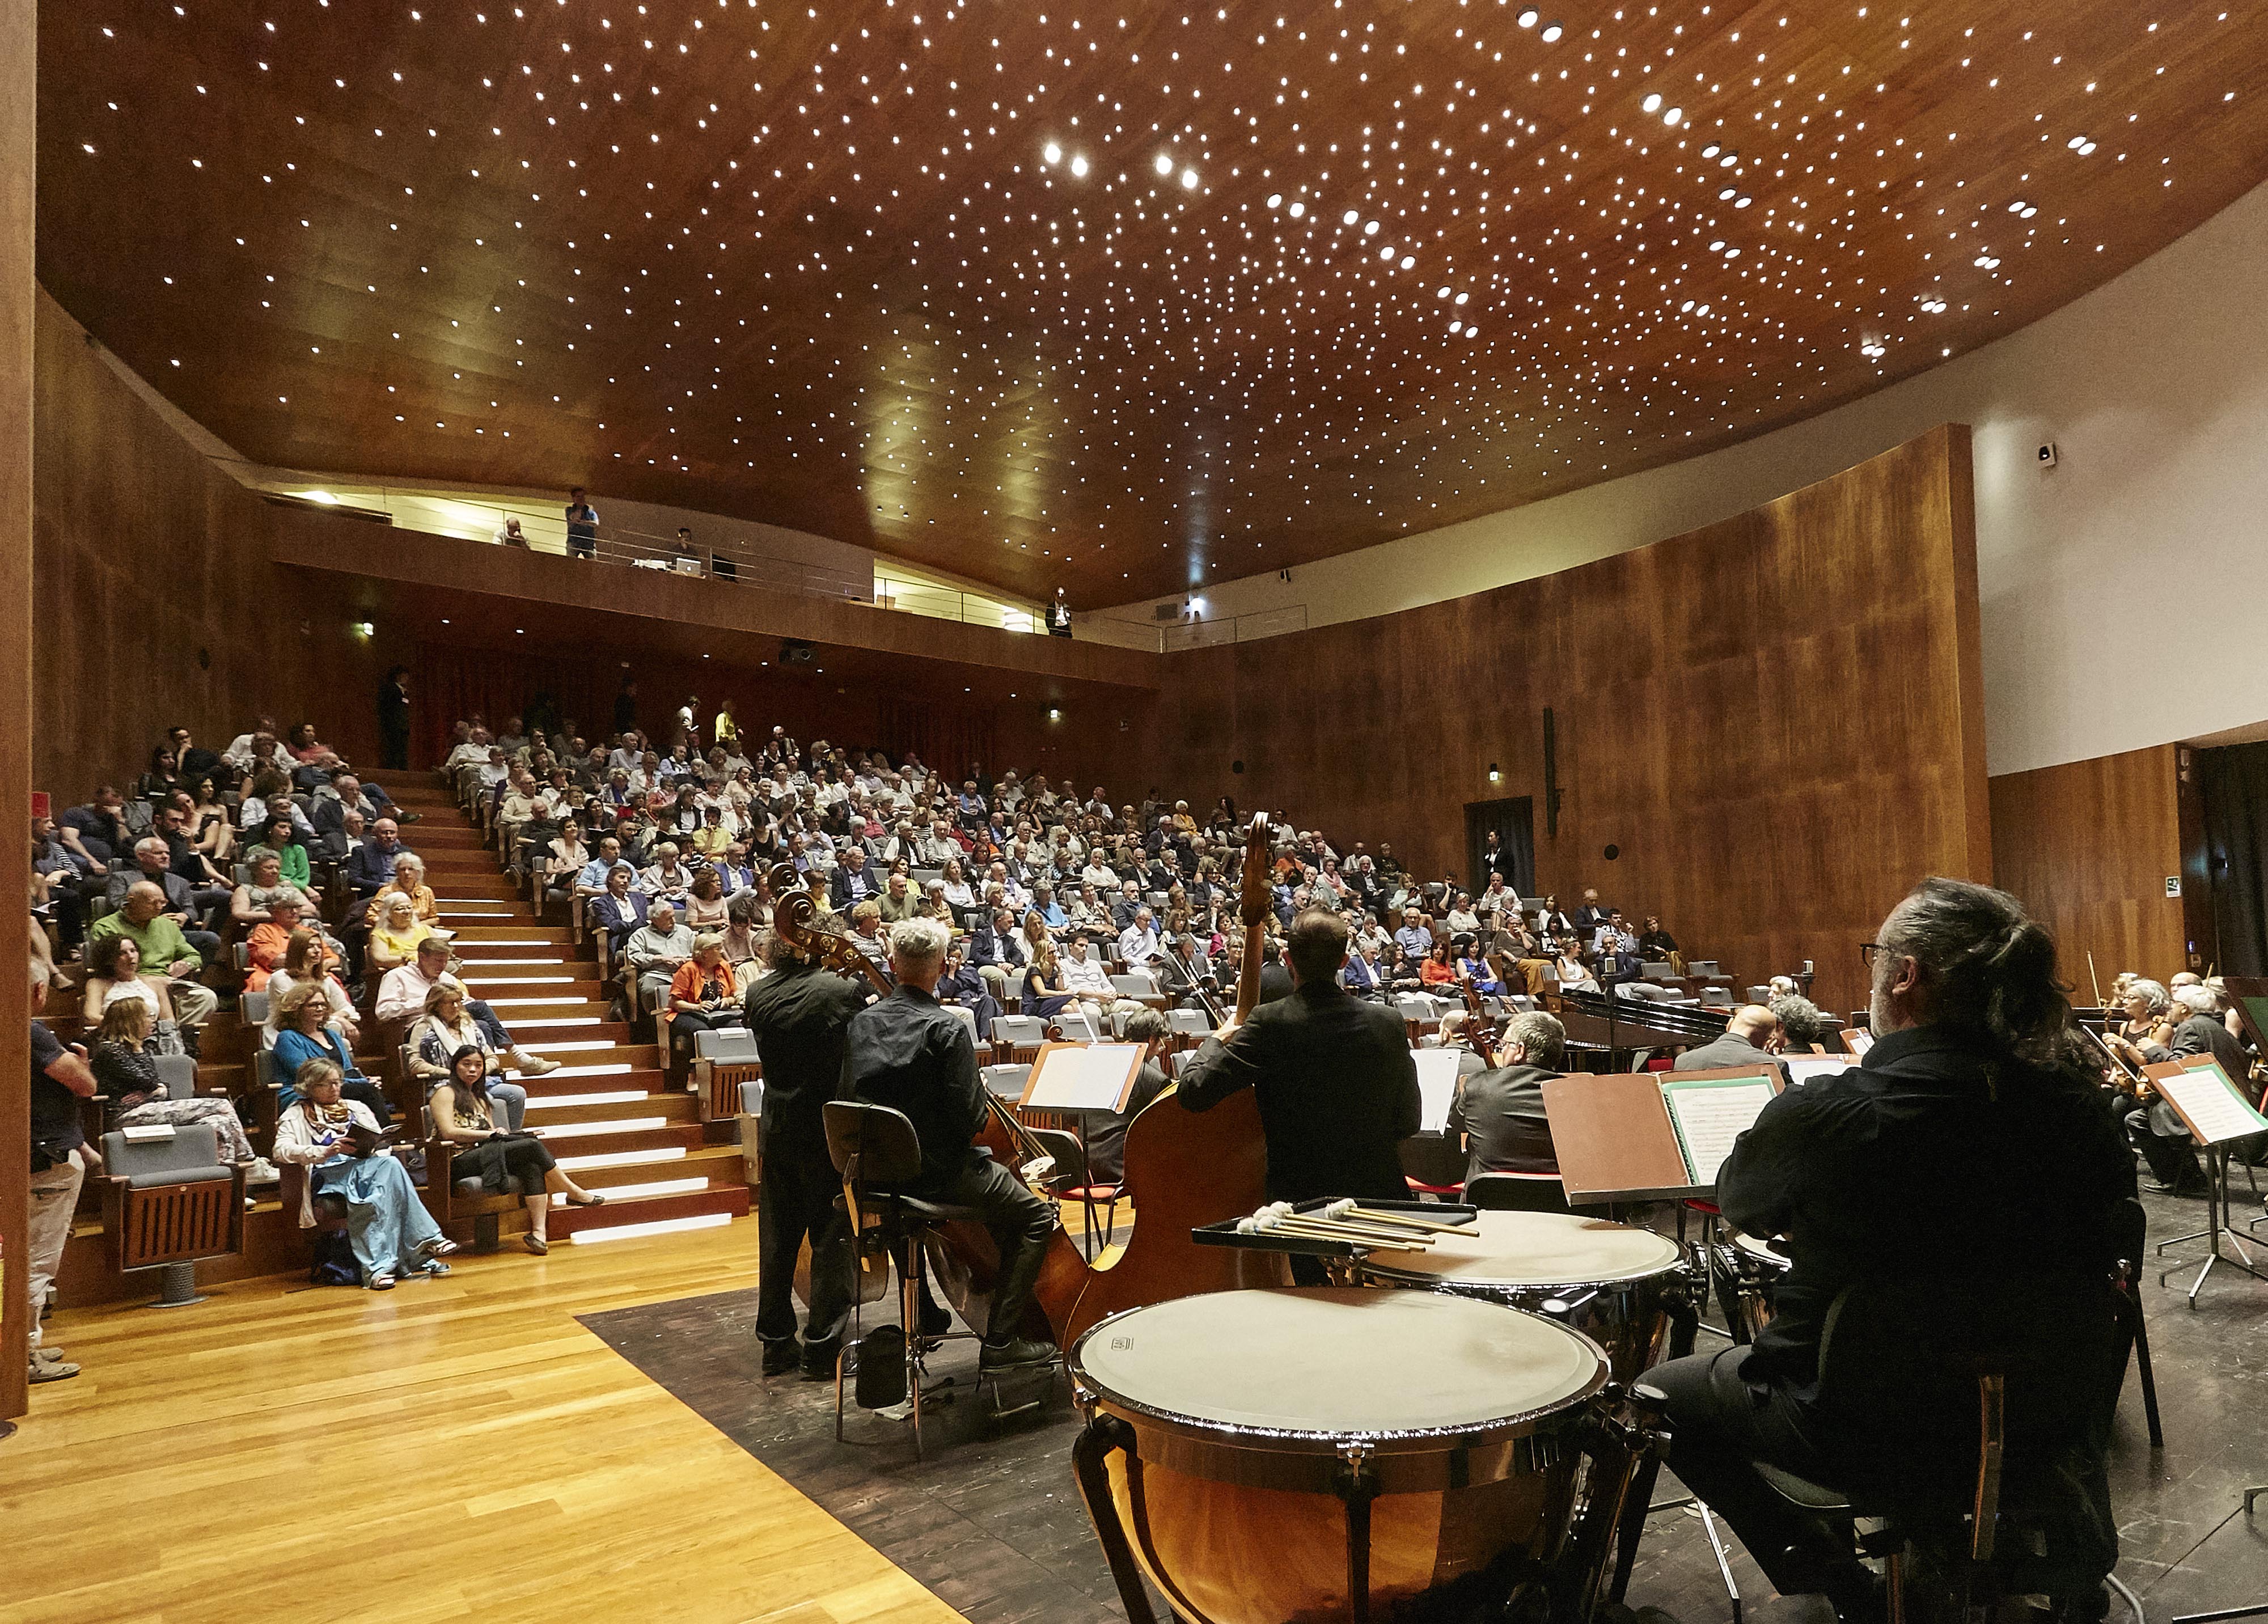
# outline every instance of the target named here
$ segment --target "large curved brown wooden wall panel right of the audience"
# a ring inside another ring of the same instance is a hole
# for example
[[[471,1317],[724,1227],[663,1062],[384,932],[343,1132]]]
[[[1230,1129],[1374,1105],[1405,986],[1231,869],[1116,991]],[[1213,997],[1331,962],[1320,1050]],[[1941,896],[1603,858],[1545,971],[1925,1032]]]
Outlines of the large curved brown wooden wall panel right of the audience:
[[[1944,426],[1581,569],[1175,655],[1154,753],[1429,873],[1467,801],[1535,796],[1542,889],[1658,912],[1744,978],[1810,957],[1851,1009],[1857,944],[1914,880],[1991,878],[1975,637],[1969,431]]]

